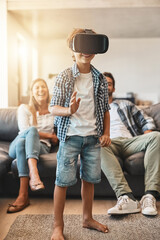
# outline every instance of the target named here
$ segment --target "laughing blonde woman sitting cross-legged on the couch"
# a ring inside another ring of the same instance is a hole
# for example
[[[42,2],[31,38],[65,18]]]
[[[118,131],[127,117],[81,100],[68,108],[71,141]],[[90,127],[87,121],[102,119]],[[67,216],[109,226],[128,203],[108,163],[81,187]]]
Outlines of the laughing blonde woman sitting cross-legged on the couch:
[[[37,161],[40,154],[50,152],[51,143],[58,142],[53,130],[53,115],[49,112],[49,91],[43,79],[36,79],[31,85],[30,101],[18,108],[19,134],[11,143],[9,155],[17,158],[20,177],[19,195],[9,204],[7,213],[23,210],[29,205],[28,185],[32,191],[44,189],[40,180]]]

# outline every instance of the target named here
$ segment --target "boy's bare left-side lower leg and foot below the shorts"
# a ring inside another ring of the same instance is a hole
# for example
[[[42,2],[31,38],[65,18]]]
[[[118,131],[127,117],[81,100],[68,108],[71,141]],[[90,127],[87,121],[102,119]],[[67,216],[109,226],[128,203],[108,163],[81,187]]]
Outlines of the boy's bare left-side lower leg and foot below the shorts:
[[[66,200],[67,187],[55,185],[54,189],[54,226],[51,240],[64,240],[63,236],[63,211]]]

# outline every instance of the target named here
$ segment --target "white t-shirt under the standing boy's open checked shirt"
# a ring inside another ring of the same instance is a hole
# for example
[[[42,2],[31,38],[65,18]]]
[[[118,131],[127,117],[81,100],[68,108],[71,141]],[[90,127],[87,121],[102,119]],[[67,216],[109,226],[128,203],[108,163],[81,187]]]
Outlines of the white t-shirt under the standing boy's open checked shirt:
[[[81,98],[77,112],[70,117],[70,125],[67,136],[89,136],[96,135],[96,116],[94,106],[93,79],[90,73],[80,73],[74,84],[77,97]]]

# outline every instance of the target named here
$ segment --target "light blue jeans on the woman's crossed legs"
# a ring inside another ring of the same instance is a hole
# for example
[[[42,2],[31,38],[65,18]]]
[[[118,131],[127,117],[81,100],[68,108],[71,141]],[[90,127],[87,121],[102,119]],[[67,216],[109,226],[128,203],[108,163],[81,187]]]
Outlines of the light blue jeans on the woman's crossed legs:
[[[49,153],[50,148],[40,142],[38,131],[35,127],[30,127],[19,134],[9,147],[9,156],[17,158],[17,168],[19,177],[28,177],[28,159],[39,159],[40,154]]]

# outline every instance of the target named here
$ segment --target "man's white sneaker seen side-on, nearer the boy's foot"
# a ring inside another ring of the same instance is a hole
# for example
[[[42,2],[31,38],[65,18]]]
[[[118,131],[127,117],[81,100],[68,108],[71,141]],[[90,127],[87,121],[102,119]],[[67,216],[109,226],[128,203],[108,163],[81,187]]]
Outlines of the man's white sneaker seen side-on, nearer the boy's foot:
[[[140,212],[140,204],[138,201],[133,201],[127,195],[120,196],[117,204],[108,210],[109,215],[129,214]]]

